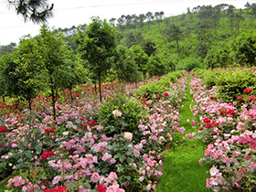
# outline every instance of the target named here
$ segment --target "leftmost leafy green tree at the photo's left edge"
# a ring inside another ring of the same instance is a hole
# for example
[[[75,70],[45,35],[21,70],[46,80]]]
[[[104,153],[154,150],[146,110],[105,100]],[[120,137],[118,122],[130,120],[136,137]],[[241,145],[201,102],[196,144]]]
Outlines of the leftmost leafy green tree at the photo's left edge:
[[[23,98],[30,110],[32,99],[43,89],[37,58],[37,44],[30,38],[22,39],[15,52],[1,58],[1,80],[5,83],[1,94]]]

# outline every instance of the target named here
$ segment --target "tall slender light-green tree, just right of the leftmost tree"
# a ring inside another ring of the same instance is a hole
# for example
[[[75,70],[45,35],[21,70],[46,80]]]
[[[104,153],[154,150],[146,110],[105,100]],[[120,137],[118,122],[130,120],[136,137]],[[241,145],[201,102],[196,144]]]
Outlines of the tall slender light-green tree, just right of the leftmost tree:
[[[63,36],[55,35],[46,25],[41,27],[40,36],[36,37],[36,42],[38,45],[37,51],[40,53],[37,59],[42,65],[42,71],[40,72],[45,74],[48,81],[53,116],[56,118],[56,96],[59,89],[66,86],[65,80],[61,79],[61,68],[67,64],[65,60],[69,57],[69,50],[66,47]]]

